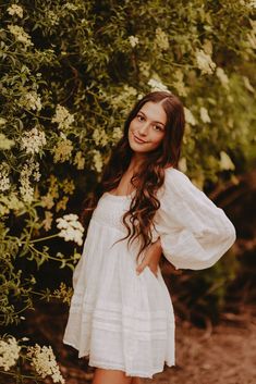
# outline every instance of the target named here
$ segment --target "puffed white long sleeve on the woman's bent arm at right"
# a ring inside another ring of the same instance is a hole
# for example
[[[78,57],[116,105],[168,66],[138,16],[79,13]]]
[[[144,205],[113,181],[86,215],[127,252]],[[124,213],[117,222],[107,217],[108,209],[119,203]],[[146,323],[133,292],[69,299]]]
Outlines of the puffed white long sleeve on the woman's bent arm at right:
[[[223,210],[175,169],[166,170],[160,190],[155,224],[164,257],[176,269],[214,265],[235,240]]]

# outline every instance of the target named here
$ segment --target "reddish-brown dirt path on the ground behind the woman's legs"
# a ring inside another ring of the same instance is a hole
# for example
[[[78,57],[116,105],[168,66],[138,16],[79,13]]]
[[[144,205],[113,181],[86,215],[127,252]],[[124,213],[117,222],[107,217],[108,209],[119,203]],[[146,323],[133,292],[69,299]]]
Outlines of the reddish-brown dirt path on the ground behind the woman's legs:
[[[66,384],[90,383],[93,369],[66,369]],[[176,326],[176,366],[166,367],[144,384],[256,383],[256,319],[222,322],[212,330]]]

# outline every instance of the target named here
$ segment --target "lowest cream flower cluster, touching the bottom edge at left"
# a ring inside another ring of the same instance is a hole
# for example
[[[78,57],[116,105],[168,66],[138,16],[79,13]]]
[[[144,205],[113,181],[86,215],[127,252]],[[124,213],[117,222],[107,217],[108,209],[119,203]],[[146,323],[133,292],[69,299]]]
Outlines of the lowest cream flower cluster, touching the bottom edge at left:
[[[42,379],[50,375],[53,383],[64,384],[51,347],[40,347],[36,344],[35,347],[28,348],[27,356],[32,358],[32,366]]]

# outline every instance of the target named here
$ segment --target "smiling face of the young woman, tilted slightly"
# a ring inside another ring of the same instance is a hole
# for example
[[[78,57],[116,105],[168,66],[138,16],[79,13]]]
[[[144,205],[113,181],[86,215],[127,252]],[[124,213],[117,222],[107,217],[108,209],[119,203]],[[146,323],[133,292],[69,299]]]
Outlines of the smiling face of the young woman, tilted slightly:
[[[129,144],[134,152],[156,149],[164,137],[166,112],[160,103],[146,102],[129,127]]]

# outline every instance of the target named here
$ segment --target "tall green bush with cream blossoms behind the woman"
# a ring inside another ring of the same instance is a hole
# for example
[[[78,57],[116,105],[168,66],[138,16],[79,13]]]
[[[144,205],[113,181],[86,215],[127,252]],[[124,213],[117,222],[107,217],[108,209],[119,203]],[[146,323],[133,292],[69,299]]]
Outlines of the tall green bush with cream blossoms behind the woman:
[[[74,268],[81,248],[69,252],[64,240],[81,247],[82,199],[144,94],[169,89],[183,100],[180,169],[196,185],[237,183],[255,144],[254,10],[255,1],[242,0],[1,4],[2,324],[33,308],[37,277],[21,258]],[[47,289],[37,295],[70,297],[64,285]]]

